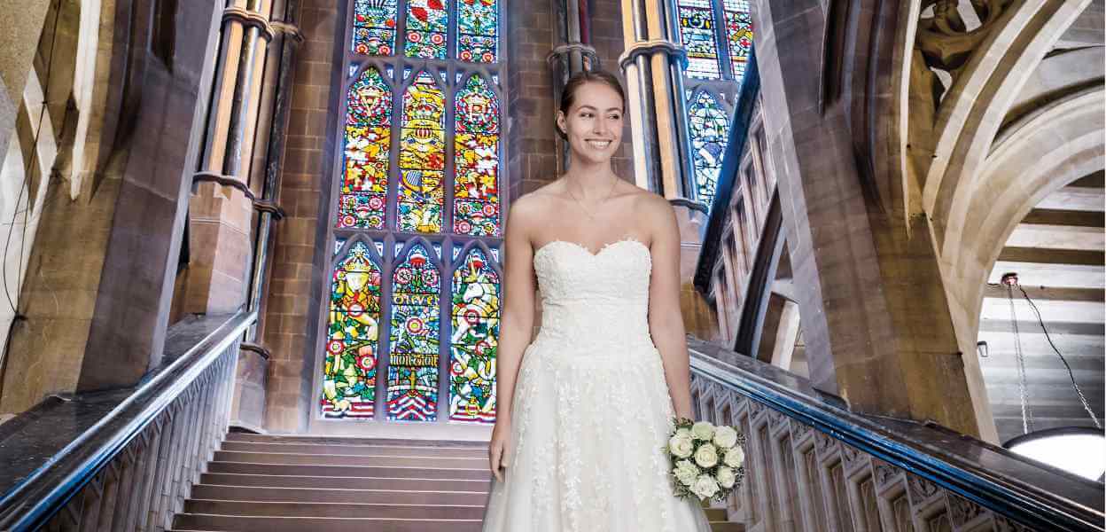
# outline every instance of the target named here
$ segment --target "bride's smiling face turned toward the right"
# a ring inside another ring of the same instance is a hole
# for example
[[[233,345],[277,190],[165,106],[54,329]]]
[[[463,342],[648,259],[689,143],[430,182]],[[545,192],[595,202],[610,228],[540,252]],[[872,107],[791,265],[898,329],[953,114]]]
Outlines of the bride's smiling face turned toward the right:
[[[605,163],[622,142],[623,101],[604,83],[584,83],[576,90],[568,113],[557,112],[557,127],[565,132],[577,159]]]

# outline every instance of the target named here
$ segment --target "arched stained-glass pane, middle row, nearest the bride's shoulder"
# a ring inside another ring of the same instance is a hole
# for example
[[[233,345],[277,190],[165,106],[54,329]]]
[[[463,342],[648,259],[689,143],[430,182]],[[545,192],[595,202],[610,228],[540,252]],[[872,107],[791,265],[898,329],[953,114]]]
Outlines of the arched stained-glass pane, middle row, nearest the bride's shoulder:
[[[453,231],[499,236],[499,100],[472,75],[455,108]]]

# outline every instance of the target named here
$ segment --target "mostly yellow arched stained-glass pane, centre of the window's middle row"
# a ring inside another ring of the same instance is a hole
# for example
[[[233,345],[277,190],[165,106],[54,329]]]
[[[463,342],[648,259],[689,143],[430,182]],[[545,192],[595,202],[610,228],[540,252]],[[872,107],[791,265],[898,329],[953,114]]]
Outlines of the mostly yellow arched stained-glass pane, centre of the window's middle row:
[[[426,71],[404,92],[399,131],[400,231],[439,232],[445,205],[446,97]]]

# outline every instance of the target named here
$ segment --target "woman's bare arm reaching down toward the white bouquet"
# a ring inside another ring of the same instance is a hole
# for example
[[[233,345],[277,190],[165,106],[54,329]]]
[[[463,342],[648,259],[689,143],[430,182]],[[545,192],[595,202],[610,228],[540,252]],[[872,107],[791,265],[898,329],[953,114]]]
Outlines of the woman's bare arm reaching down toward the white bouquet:
[[[649,278],[649,334],[660,352],[676,417],[691,418],[691,369],[680,311],[680,232],[676,211],[661,196],[649,194],[648,225],[653,231]]]

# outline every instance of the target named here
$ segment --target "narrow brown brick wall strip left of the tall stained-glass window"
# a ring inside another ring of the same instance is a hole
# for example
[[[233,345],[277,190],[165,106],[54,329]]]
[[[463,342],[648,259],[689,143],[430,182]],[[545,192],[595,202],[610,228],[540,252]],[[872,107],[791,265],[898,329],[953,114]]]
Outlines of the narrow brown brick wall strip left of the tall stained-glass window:
[[[307,333],[319,315],[311,288],[321,284],[325,273],[321,264],[326,255],[316,250],[325,244],[326,221],[320,220],[320,208],[332,182],[324,164],[330,160],[326,124],[335,92],[337,18],[337,8],[327,0],[305,0],[300,14],[305,40],[296,55],[280,192],[288,217],[276,223],[262,338],[272,353],[265,423],[275,431],[304,429],[304,409],[312,403],[307,374],[314,371],[315,350],[307,344]]]

